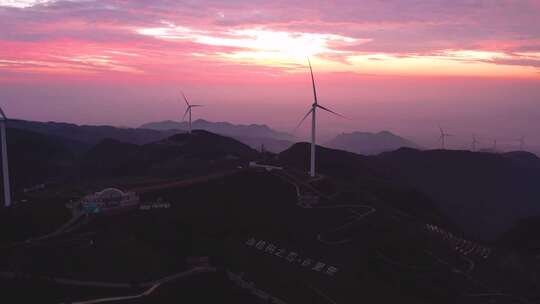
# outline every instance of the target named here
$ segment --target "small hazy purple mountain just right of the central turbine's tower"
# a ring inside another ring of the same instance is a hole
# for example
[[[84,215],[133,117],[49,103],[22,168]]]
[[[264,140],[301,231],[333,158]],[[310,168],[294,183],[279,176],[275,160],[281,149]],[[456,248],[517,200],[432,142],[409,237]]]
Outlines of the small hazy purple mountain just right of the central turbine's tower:
[[[412,141],[388,131],[342,133],[325,146],[366,155],[393,151],[402,147],[418,148],[418,145]]]

